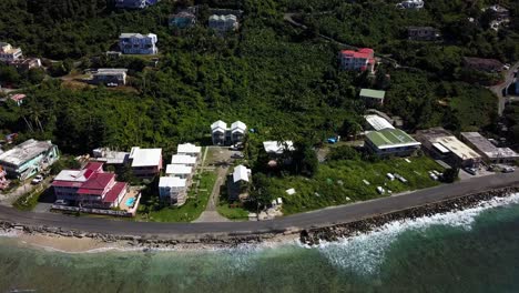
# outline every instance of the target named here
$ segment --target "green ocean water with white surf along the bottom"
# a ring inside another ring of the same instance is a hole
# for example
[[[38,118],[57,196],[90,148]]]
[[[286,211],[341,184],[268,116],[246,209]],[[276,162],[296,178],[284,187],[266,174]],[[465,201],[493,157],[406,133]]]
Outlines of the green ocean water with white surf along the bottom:
[[[306,247],[62,253],[0,238],[0,292],[519,292],[519,194]]]

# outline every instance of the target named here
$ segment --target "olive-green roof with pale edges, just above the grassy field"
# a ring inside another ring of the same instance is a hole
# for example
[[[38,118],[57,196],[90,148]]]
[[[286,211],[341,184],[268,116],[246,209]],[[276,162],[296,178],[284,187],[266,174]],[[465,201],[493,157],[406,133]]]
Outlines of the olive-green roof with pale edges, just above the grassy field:
[[[372,131],[366,133],[366,139],[368,139],[379,150],[421,144],[399,129],[383,129],[380,131]]]

